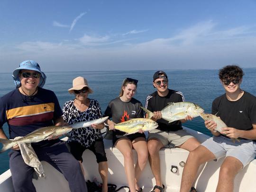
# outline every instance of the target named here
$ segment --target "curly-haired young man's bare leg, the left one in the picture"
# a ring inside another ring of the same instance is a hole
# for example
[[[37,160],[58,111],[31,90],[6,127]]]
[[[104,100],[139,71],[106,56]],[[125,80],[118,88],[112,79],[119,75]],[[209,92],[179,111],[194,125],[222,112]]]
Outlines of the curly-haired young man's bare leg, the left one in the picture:
[[[199,146],[191,151],[183,170],[180,192],[189,192],[199,166],[215,158],[215,155],[204,146]]]

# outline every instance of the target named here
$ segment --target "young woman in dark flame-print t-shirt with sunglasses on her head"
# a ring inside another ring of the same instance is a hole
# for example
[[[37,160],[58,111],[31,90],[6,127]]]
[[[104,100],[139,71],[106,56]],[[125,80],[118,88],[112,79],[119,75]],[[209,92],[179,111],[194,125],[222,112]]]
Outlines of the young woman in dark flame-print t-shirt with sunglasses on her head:
[[[109,116],[108,119],[110,129],[114,129],[116,123],[124,122],[129,119],[143,118],[144,114],[141,102],[134,99],[133,96],[137,89],[137,80],[126,78],[124,79],[119,97],[110,101],[104,116]],[[146,166],[148,150],[146,145],[146,137],[144,133],[134,133],[124,136],[125,132],[113,131],[113,145],[115,145],[124,156],[125,173],[128,180],[128,185],[131,192],[141,192],[142,188],[138,186],[138,180],[142,170]],[[134,167],[132,149],[137,151],[138,160]]]

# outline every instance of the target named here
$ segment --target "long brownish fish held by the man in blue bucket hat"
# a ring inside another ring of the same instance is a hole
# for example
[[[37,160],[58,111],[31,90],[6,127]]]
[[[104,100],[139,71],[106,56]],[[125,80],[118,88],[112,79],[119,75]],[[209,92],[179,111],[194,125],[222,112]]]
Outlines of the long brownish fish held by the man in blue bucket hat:
[[[15,146],[18,142],[37,143],[39,141],[46,140],[50,136],[59,136],[66,134],[71,130],[71,126],[49,126],[45,128],[39,128],[18,140],[0,138],[0,143],[2,143],[3,145],[0,153],[8,150],[12,146]]]

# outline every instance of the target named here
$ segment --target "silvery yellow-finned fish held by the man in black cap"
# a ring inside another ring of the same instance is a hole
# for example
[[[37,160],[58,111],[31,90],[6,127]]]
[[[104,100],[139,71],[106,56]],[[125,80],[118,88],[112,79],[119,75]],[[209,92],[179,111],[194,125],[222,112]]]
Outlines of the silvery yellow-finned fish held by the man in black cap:
[[[151,119],[154,115],[150,110],[141,107],[148,114],[148,119]],[[188,115],[191,117],[197,117],[204,110],[197,104],[192,102],[177,102],[168,103],[168,105],[161,110],[162,118],[167,120],[169,123],[176,120],[185,119]]]

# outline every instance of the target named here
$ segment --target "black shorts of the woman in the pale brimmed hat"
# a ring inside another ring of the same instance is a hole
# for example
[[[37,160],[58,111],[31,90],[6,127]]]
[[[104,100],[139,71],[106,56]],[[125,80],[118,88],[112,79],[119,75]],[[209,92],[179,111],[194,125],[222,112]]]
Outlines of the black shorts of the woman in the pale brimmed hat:
[[[70,153],[78,161],[82,162],[82,153],[85,151],[85,149],[89,149],[94,153],[97,159],[97,163],[108,161],[105,153],[104,142],[102,139],[94,141],[90,147],[82,146],[77,141],[72,141],[67,144],[70,148]]]

